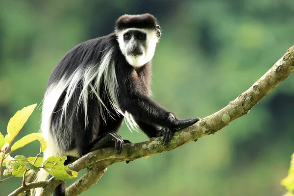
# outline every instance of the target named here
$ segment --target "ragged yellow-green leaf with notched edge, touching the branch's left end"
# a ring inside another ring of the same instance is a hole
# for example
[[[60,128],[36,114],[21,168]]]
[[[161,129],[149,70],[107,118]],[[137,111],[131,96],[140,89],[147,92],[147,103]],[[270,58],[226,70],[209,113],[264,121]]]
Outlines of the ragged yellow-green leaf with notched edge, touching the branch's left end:
[[[44,162],[43,169],[59,180],[69,180],[77,176],[77,172],[68,169],[64,166],[66,156],[52,156]]]

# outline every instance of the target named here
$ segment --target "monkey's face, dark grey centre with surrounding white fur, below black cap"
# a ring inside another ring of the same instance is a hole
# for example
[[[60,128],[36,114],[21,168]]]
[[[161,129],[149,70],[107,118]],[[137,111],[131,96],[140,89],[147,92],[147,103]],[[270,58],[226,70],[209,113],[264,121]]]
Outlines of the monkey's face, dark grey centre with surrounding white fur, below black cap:
[[[133,67],[143,66],[153,58],[158,39],[157,32],[149,29],[128,28],[118,32],[120,49]]]

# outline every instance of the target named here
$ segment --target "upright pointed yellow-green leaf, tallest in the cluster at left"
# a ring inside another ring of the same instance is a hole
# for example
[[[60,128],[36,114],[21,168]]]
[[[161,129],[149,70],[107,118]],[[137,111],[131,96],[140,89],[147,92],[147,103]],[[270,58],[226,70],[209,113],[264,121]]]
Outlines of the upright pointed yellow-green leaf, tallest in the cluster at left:
[[[8,133],[8,143],[11,143],[15,136],[23,128],[28,117],[32,114],[37,104],[33,104],[27,107],[24,107],[21,111],[17,111],[15,115],[10,119],[7,125]],[[5,136],[6,138],[6,136]]]

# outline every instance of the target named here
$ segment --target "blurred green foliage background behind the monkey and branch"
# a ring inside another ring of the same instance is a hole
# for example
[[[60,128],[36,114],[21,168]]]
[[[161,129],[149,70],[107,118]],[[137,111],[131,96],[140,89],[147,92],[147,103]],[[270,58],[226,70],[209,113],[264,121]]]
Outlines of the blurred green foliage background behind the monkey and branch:
[[[180,118],[205,117],[235,99],[294,44],[293,0],[0,0],[0,131],[40,104],[59,59],[111,33],[128,14],[157,17],[154,99]],[[82,196],[279,196],[294,152],[293,75],[215,135],[171,152],[110,166]],[[17,139],[37,132],[35,110]],[[120,134],[132,142],[143,132]],[[34,156],[38,142],[12,155]],[[81,175],[83,172],[79,172]],[[21,178],[0,184],[0,196]]]

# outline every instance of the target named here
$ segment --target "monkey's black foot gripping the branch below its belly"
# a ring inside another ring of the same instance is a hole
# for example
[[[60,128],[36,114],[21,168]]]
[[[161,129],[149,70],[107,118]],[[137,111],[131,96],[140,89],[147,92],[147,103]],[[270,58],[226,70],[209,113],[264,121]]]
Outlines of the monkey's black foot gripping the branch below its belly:
[[[131,143],[128,140],[123,140],[122,136],[117,133],[108,132],[104,133],[97,140],[92,143],[90,151],[97,150],[102,147],[113,147],[117,150],[117,154],[121,154],[123,150],[123,143]]]

